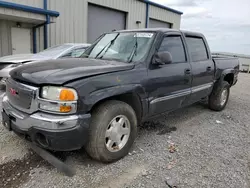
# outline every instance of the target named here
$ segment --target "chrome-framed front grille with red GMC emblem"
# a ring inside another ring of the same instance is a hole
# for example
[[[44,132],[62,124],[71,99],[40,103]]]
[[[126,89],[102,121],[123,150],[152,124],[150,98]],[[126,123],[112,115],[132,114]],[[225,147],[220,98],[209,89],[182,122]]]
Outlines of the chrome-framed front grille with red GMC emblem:
[[[9,78],[6,82],[6,95],[10,104],[26,113],[35,111],[34,102],[38,89]]]

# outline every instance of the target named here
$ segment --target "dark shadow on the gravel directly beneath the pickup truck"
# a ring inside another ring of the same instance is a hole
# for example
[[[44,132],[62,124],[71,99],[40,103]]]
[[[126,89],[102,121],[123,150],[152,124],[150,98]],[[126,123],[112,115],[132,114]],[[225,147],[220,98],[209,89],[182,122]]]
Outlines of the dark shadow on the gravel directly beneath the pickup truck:
[[[139,138],[145,136],[145,132],[149,134],[164,135],[170,134],[171,132],[177,131],[181,128],[180,125],[185,124],[185,121],[189,120],[191,117],[195,118],[200,116],[202,113],[211,112],[205,104],[194,104],[190,107],[182,108],[177,111],[162,114],[150,121],[142,123],[138,128]],[[133,148],[132,148],[133,150]],[[60,160],[67,162],[69,158],[74,158],[77,163],[81,161],[82,165],[89,166],[99,166],[102,164],[92,160],[84,149],[73,151],[73,152],[53,152],[53,155]]]

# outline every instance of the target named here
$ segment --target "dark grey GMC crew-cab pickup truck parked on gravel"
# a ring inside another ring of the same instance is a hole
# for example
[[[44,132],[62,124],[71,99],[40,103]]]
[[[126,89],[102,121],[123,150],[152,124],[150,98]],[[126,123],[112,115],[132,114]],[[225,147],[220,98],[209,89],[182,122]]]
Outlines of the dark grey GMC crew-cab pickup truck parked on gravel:
[[[129,152],[145,120],[204,99],[223,110],[238,73],[238,60],[213,58],[202,34],[115,31],[79,59],[13,70],[3,125],[44,149],[85,147],[92,158],[112,162]]]

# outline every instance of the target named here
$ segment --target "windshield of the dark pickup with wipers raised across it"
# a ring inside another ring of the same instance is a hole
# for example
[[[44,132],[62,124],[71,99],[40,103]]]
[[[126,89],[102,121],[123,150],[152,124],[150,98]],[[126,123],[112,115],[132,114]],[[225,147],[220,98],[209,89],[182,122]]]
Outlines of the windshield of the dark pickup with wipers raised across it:
[[[154,39],[151,32],[109,33],[87,49],[82,57],[139,61],[147,54]]]

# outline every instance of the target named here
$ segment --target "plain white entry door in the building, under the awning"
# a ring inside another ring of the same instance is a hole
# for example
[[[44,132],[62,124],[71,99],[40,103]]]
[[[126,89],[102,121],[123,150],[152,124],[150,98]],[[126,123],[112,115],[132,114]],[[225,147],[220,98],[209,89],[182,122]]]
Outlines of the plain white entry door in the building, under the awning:
[[[11,28],[12,54],[31,53],[31,30],[25,28]]]

